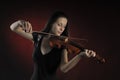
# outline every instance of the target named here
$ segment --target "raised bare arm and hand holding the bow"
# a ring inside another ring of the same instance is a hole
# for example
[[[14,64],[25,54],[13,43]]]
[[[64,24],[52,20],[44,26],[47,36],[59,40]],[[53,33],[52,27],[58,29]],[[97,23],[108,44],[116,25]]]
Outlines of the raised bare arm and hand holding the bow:
[[[28,21],[18,20],[10,25],[10,29],[26,39],[33,39],[32,26]]]

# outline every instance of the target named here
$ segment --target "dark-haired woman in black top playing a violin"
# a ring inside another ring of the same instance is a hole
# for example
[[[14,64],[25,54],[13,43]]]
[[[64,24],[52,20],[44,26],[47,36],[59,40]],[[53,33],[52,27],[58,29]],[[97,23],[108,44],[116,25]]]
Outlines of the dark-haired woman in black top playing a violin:
[[[68,72],[83,55],[86,57],[96,55],[94,51],[86,49],[68,61],[67,49],[65,47],[51,47],[49,44],[51,36],[33,32],[28,21],[18,20],[11,24],[10,29],[34,42],[33,60],[35,64],[32,80],[57,80],[57,68],[60,67],[61,71]],[[41,32],[56,36],[68,36],[68,17],[63,12],[55,12]],[[67,38],[65,40],[67,41]]]

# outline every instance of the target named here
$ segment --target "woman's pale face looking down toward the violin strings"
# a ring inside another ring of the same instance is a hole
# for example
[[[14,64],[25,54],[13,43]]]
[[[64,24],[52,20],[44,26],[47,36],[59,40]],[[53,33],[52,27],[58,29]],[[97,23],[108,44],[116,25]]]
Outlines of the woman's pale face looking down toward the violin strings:
[[[67,19],[65,17],[59,17],[52,25],[51,33],[60,36],[67,25]]]

